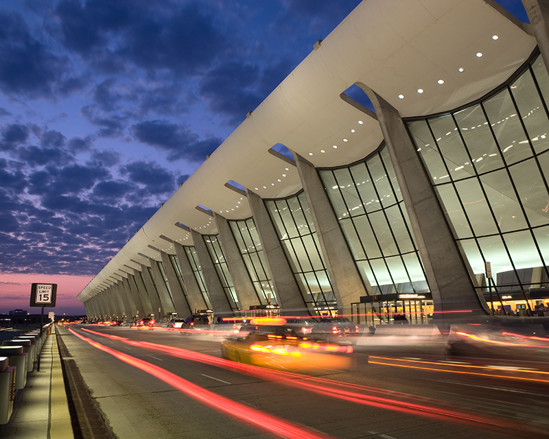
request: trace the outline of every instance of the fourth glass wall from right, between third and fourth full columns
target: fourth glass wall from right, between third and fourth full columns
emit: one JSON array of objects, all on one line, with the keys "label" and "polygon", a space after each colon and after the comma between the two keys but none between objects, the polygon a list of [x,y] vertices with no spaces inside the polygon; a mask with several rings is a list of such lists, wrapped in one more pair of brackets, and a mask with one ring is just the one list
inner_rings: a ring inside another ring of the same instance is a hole
[{"label": "fourth glass wall from right, between third and fourth full columns", "polygon": [[229,221],[231,230],[240,248],[240,254],[252,279],[257,298],[261,305],[278,305],[277,296],[270,281],[263,248],[255,228],[253,218],[242,221]]}]

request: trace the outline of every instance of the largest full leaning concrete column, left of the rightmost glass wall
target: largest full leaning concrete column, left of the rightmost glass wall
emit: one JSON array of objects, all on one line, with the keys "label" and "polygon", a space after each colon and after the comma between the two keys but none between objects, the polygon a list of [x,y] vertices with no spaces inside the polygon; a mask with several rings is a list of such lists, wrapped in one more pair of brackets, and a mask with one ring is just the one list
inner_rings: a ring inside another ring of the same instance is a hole
[{"label": "largest full leaning concrete column, left of the rightmost glass wall", "polygon": [[460,318],[470,320],[471,315],[487,316],[486,302],[476,293],[444,211],[399,112],[365,84],[359,82],[357,85],[370,98],[382,128],[435,311],[469,311],[435,316],[447,322]]}]

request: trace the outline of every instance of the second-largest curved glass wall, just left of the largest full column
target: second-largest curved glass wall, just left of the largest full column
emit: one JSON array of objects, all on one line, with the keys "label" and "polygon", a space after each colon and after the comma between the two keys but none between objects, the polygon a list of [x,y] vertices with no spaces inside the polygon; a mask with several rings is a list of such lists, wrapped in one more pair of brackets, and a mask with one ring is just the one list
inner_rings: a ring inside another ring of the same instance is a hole
[{"label": "second-largest curved glass wall, just left of the largest full column", "polygon": [[319,174],[358,270],[374,293],[429,292],[386,147],[360,163]]}]

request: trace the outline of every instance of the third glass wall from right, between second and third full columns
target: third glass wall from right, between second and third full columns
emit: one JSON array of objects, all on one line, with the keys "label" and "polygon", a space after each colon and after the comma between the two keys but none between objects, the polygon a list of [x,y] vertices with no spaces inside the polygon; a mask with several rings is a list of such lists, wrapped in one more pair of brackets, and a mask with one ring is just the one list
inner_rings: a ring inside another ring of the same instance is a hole
[{"label": "third glass wall from right, between second and third full columns", "polygon": [[307,306],[318,312],[337,307],[305,193],[265,204]]}]

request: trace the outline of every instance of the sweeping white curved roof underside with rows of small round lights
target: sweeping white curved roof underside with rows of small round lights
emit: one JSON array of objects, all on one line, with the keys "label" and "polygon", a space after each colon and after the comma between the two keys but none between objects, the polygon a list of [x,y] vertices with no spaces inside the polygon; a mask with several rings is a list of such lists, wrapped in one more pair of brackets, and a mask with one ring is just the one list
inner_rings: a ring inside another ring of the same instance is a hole
[{"label": "sweeping white curved roof underside with rows of small round lights", "polygon": [[196,206],[227,219],[250,217],[246,197],[225,187],[229,180],[262,198],[299,191],[296,168],[268,152],[277,143],[316,167],[347,165],[373,152],[383,140],[382,132],[371,115],[341,99],[349,86],[366,84],[403,117],[451,110],[499,86],[536,43],[521,23],[509,20],[492,4],[484,0],[360,3],[163,204],[78,299],[97,294],[97,289],[104,289],[100,283],[119,269],[128,270],[126,265],[137,268],[130,259],[148,263],[139,253],[159,260],[159,252],[149,246],[174,254],[173,244],[161,235],[193,245],[190,233],[176,223],[202,234],[217,233],[213,218]]}]

